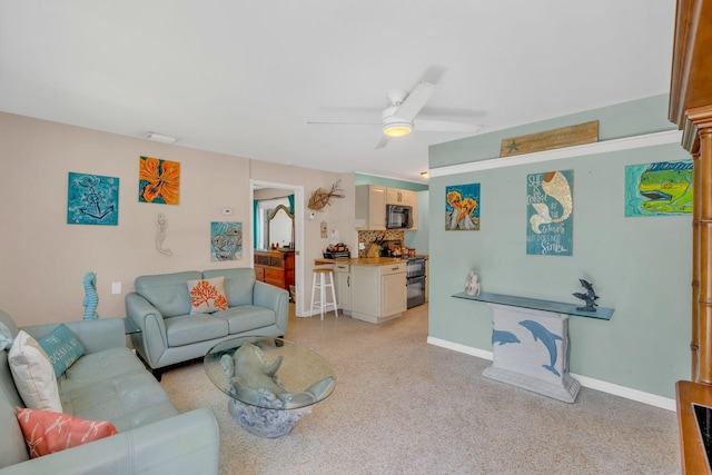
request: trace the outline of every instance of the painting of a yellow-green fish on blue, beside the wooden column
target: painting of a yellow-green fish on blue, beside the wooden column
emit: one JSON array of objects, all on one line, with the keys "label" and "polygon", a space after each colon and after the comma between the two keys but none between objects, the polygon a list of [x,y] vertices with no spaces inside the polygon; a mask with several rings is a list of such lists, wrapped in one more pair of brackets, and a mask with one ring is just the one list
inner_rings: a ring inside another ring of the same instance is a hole
[{"label": "painting of a yellow-green fish on blue, beside the wooden column", "polygon": [[625,216],[691,215],[692,160],[625,167]]}]

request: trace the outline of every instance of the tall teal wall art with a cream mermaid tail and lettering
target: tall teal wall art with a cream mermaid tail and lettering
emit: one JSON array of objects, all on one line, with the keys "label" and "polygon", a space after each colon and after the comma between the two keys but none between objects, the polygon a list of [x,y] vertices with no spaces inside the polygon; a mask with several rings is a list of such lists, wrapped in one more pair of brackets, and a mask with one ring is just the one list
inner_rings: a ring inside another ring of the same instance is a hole
[{"label": "tall teal wall art with a cream mermaid tail and lettering", "polygon": [[573,254],[574,171],[526,177],[526,254]]}]

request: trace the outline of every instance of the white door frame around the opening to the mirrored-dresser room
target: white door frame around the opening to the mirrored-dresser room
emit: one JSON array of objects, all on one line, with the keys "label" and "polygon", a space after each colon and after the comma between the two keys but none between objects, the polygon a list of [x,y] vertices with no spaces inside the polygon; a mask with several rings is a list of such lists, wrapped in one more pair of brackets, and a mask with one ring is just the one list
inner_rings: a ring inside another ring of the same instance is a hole
[{"label": "white door frame around the opening to the mirrored-dresser room", "polygon": [[[297,316],[306,315],[304,298],[304,187],[300,185],[278,184],[274,181],[249,180],[249,202],[255,201],[255,190],[274,188],[294,194],[294,249],[295,249],[295,287]],[[249,207],[249,222],[255,224],[255,207]],[[250,239],[248,259],[250,267],[255,267],[255,243]]]}]

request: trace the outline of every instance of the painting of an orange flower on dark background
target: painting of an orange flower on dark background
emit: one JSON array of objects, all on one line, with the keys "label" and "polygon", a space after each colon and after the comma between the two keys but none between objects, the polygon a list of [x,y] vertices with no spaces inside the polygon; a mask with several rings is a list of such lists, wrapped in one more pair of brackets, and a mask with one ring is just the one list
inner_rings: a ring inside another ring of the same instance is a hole
[{"label": "painting of an orange flower on dark background", "polygon": [[138,172],[139,202],[178,205],[180,197],[180,164],[141,157]]}]

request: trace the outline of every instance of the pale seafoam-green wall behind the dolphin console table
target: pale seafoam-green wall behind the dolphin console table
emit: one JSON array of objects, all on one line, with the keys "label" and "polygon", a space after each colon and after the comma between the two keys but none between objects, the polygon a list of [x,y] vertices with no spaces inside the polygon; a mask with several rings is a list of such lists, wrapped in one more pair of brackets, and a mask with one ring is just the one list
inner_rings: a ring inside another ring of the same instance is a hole
[{"label": "pale seafoam-green wall behind the dolphin console table", "polygon": [[[431,168],[493,158],[502,138],[599,119],[601,140],[674,129],[668,97],[431,147]],[[429,336],[492,350],[492,310],[452,298],[467,273],[483,290],[578,303],[578,278],[594,284],[610,321],[571,317],[572,373],[674,398],[690,378],[692,218],[624,217],[625,166],[690,159],[676,144],[432,177]],[[526,255],[526,176],[573,170],[573,256]],[[445,187],[481,184],[481,230],[445,231]]]}]

